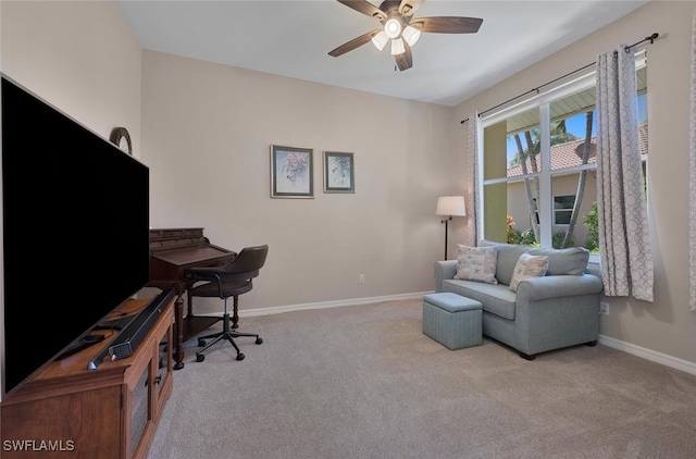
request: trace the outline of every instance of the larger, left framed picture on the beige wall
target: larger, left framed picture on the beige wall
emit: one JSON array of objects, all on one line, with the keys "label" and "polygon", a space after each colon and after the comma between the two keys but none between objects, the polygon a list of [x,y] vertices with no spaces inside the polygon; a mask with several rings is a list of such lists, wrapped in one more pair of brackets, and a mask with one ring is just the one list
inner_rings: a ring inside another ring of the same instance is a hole
[{"label": "larger, left framed picture on the beige wall", "polygon": [[313,198],[311,148],[271,146],[271,197]]}]

